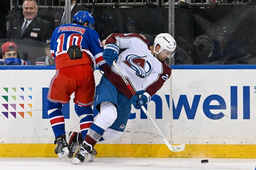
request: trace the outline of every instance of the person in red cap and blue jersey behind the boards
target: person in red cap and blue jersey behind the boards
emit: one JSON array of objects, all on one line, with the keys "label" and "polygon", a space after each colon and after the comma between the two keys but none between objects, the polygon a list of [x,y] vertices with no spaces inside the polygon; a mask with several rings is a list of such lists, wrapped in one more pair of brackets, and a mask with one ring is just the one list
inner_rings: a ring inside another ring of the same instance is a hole
[{"label": "person in red cap and blue jersey behind the boards", "polygon": [[2,45],[0,65],[31,65],[31,63],[18,57],[17,45],[14,42],[6,42]]}]

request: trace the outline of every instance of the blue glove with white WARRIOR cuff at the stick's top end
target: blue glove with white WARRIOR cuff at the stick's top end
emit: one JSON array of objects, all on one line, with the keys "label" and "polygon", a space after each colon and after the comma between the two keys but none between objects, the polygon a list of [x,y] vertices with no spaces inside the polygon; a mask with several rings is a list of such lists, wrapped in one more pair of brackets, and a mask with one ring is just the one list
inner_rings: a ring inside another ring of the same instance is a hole
[{"label": "blue glove with white WARRIOR cuff at the stick's top end", "polygon": [[105,45],[104,49],[105,50],[103,52],[103,59],[107,62],[108,66],[110,67],[113,64],[113,61],[118,59],[119,48],[116,44],[111,43]]}]

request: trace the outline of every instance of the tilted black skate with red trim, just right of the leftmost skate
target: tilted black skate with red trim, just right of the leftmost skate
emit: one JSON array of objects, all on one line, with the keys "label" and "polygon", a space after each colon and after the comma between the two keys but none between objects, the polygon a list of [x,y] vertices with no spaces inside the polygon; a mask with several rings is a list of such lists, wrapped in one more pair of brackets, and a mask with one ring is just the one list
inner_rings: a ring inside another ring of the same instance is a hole
[{"label": "tilted black skate with red trim, just right of the leftmost skate", "polygon": [[74,153],[79,149],[83,143],[83,137],[81,133],[69,132],[69,142],[68,142],[68,158],[73,158]]}]

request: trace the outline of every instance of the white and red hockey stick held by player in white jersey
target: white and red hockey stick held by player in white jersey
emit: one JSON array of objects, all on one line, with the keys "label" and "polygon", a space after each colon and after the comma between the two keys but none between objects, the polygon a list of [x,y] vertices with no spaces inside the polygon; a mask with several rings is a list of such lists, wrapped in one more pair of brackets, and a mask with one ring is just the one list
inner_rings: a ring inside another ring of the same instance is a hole
[{"label": "white and red hockey stick held by player in white jersey", "polygon": [[[116,68],[118,74],[122,77],[122,79],[124,80],[124,83],[126,84],[126,86],[128,87],[128,89],[131,91],[131,93],[133,95],[136,95],[136,93],[133,91],[132,86],[129,84],[129,82],[126,80],[126,78],[124,77],[124,74],[121,72],[121,70],[119,69],[119,67],[116,65],[116,62],[113,62],[114,67]],[[152,123],[152,125],[154,126],[154,128],[156,129],[156,131],[158,132],[159,136],[163,139],[164,143],[166,144],[166,146],[170,149],[170,151],[172,152],[180,152],[183,151],[185,149],[185,144],[180,144],[180,145],[172,145],[169,144],[169,142],[165,139],[164,135],[162,134],[162,132],[160,131],[160,129],[156,126],[156,123],[153,121],[152,117],[148,114],[148,111],[146,110],[146,108],[142,105],[141,106],[142,110],[144,111],[144,113],[147,115],[149,121]]]}]

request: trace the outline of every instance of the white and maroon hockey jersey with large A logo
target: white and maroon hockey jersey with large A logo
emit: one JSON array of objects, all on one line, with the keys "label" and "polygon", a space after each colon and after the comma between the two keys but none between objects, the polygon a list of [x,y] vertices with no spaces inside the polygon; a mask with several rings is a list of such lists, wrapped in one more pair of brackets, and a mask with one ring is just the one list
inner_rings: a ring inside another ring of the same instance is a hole
[{"label": "white and maroon hockey jersey with large A logo", "polygon": [[[153,56],[148,40],[137,33],[113,33],[106,44],[115,43],[125,50],[119,54],[116,64],[123,72],[135,92],[144,90],[153,96],[171,76],[171,68],[166,61],[161,62]],[[121,51],[121,50],[120,50]],[[119,76],[115,67],[102,66],[105,76],[126,97],[132,94]]]}]

